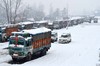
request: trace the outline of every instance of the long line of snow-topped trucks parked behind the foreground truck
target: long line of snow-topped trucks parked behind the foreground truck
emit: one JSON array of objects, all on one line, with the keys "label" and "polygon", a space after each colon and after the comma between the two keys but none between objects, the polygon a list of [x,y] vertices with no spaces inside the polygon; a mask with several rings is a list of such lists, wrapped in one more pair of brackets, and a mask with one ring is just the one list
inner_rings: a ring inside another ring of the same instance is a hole
[{"label": "long line of snow-topped trucks parked behind the foreground truck", "polygon": [[93,21],[94,23],[98,23],[98,19],[95,17],[73,17],[68,20],[56,20],[53,22],[48,21],[37,21],[37,22],[21,22],[14,25],[6,25],[0,27],[0,42],[7,41],[14,31],[21,31],[24,29],[32,29],[32,28],[39,28],[39,27],[46,27],[51,30],[53,29],[61,29],[66,28],[68,26],[78,25],[83,22],[89,22],[91,23]]}]

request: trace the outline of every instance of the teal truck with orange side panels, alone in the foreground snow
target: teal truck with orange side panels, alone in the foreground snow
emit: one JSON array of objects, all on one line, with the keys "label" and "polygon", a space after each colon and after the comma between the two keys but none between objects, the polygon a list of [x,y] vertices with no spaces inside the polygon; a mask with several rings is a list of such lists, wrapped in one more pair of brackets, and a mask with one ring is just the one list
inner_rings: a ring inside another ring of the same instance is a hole
[{"label": "teal truck with orange side panels, alone in the foreground snow", "polygon": [[46,55],[51,47],[51,30],[45,27],[12,32],[9,39],[9,54],[14,61],[29,61],[33,55]]}]

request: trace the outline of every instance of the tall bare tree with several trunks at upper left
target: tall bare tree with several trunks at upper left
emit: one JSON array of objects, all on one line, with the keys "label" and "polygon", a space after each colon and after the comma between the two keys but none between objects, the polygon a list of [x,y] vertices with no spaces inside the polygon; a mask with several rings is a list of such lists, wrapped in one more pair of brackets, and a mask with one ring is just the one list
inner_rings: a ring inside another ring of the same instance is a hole
[{"label": "tall bare tree with several trunks at upper left", "polygon": [[8,23],[16,23],[18,9],[22,0],[1,0],[0,7],[5,10]]}]

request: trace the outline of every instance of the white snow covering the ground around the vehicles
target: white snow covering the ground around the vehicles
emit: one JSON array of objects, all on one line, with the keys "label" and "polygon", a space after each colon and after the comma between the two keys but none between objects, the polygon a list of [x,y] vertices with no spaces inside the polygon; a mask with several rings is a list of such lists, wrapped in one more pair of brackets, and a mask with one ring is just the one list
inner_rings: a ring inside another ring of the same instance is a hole
[{"label": "white snow covering the ground around the vehicles", "polygon": [[[60,36],[70,32],[69,44],[52,43],[47,55],[23,64],[8,64],[11,60],[7,50],[8,43],[0,43],[0,66],[96,66],[99,65],[100,24],[82,24],[54,30]],[[4,52],[5,51],[5,52]],[[2,54],[3,52],[3,54]]]}]

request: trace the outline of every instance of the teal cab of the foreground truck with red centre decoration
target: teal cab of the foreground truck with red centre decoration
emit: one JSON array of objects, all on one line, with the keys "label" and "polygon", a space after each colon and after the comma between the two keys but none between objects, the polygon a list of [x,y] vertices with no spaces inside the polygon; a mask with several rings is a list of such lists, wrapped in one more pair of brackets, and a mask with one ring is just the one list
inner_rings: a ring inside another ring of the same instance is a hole
[{"label": "teal cab of the foreground truck with red centre decoration", "polygon": [[32,43],[28,33],[13,32],[9,40],[9,54],[12,59],[21,59],[26,57],[28,52],[32,54]]}]

